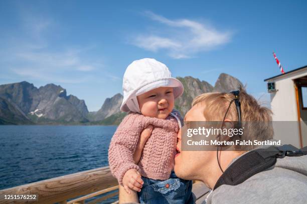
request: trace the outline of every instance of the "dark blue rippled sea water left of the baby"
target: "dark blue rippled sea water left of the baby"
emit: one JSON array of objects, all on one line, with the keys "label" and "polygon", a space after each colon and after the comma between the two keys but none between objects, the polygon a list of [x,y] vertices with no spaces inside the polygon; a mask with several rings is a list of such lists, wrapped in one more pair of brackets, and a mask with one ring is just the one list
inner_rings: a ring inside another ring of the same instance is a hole
[{"label": "dark blue rippled sea water left of the baby", "polygon": [[108,165],[116,127],[0,125],[0,189]]}]

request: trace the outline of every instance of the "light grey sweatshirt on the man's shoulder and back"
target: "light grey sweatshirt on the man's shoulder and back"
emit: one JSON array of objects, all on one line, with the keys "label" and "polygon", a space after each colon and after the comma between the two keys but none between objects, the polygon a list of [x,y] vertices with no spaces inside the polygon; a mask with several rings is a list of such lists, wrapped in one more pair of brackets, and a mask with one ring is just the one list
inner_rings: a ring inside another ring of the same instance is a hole
[{"label": "light grey sweatshirt on the man's shoulder and back", "polygon": [[[238,185],[221,185],[208,203],[304,203],[307,200],[307,156],[284,157]],[[239,169],[238,169],[239,170]]]}]

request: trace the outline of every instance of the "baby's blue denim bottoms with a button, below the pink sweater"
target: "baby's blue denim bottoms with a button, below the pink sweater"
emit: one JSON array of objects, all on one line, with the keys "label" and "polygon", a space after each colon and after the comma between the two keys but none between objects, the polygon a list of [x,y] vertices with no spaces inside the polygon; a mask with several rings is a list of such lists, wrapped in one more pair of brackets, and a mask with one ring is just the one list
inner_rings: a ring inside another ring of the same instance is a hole
[{"label": "baby's blue denim bottoms with a button, below the pink sweater", "polygon": [[177,177],[174,170],[167,180],[154,180],[142,176],[144,181],[141,191],[138,192],[140,203],[194,203],[192,196],[192,180]]}]

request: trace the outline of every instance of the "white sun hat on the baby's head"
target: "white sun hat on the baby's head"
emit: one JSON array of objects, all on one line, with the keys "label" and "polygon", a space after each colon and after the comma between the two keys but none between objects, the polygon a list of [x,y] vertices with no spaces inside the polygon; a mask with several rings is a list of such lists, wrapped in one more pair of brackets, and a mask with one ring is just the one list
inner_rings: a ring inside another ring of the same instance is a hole
[{"label": "white sun hat on the baby's head", "polygon": [[123,100],[121,111],[140,113],[137,95],[158,87],[173,87],[174,97],[182,95],[184,87],[180,80],[173,78],[169,68],[153,58],[133,61],[126,68],[122,80]]}]

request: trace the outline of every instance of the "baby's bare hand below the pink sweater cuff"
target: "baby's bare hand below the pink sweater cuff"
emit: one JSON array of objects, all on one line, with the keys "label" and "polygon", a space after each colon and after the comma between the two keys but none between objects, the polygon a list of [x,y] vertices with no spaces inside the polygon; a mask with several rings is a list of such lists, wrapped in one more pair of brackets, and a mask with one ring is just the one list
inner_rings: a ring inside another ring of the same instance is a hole
[{"label": "baby's bare hand below the pink sweater cuff", "polygon": [[140,173],[134,168],[127,170],[122,178],[123,187],[128,194],[131,193],[130,189],[139,192],[143,183]]}]

